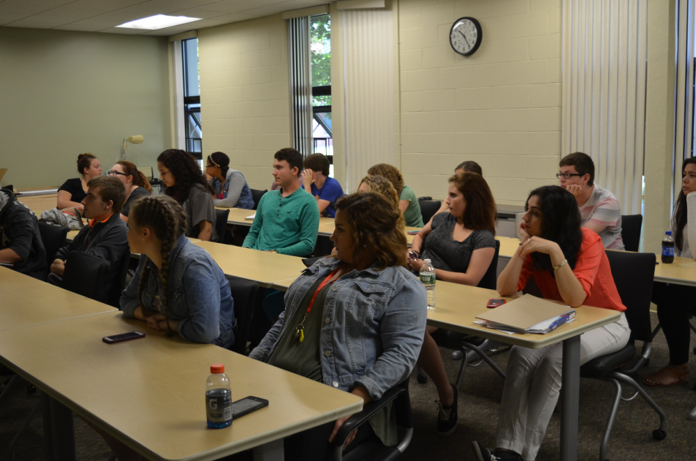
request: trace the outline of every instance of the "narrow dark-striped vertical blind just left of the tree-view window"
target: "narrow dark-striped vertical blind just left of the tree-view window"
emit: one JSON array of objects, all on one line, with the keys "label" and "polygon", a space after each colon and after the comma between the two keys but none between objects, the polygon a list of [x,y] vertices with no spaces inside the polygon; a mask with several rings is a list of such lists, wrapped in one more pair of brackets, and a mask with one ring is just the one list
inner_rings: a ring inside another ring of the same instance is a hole
[{"label": "narrow dark-striped vertical blind just left of the tree-view window", "polygon": [[303,156],[312,153],[311,70],[309,17],[294,17],[288,24],[291,126],[293,147]]}]

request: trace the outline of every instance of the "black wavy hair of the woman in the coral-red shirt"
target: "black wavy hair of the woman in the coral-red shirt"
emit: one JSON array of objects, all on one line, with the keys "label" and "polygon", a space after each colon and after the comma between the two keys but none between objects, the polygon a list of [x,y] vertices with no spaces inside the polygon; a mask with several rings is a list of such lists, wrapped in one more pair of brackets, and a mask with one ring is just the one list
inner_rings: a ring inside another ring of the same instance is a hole
[{"label": "black wavy hair of the woman in the coral-red shirt", "polygon": [[[529,210],[529,198],[539,198],[541,208],[541,235],[539,237],[556,242],[570,267],[575,267],[578,251],[582,244],[580,230],[580,210],[578,201],[570,192],[560,186],[542,186],[529,192],[525,211]],[[548,254],[534,252],[532,261],[537,269],[548,270],[553,275],[553,265]]]}]

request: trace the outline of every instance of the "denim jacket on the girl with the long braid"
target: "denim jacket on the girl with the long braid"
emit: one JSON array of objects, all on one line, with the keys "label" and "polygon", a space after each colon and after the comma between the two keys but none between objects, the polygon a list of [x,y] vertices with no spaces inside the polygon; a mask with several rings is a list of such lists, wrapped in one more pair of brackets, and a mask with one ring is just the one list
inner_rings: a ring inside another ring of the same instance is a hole
[{"label": "denim jacket on the girl with the long braid", "polygon": [[[121,311],[126,317],[133,318],[140,304],[138,288],[146,264],[150,265],[150,276],[143,292],[143,308],[162,312],[159,270],[142,255],[133,279],[121,295]],[[208,252],[182,235],[169,256],[167,279],[167,317],[179,322],[179,336],[196,343],[231,346],[235,317],[230,286]]]}]

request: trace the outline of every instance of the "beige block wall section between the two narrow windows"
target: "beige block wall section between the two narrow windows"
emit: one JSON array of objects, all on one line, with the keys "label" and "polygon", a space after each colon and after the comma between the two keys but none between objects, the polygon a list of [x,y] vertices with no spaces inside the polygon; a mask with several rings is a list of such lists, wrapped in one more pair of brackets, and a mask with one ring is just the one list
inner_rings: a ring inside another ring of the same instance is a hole
[{"label": "beige block wall section between the two narrow windows", "polygon": [[288,31],[279,15],[199,31],[203,155],[222,150],[249,187],[267,189],[290,145]]}]

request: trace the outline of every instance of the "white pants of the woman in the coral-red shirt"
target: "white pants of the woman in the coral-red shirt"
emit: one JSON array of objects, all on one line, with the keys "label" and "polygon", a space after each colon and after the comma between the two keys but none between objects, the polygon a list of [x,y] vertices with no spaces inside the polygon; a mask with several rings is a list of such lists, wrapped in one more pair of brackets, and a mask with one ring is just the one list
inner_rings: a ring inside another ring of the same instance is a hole
[{"label": "white pants of the woman in the coral-red shirt", "polygon": [[[621,350],[631,329],[626,315],[614,323],[580,335],[580,365]],[[533,461],[561,389],[563,344],[541,349],[513,346],[500,402],[497,448],[520,453]]]}]

